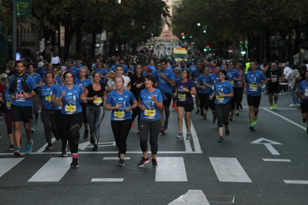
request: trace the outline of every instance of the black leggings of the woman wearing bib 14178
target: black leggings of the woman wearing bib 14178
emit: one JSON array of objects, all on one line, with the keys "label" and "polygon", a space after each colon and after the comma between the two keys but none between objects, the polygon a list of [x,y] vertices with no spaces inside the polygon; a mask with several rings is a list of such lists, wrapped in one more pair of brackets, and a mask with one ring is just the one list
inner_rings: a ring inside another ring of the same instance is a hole
[{"label": "black leggings of the woman wearing bib 14178", "polygon": [[77,133],[83,122],[82,112],[71,115],[61,115],[62,117],[62,135],[67,138],[71,153],[78,153]]}]

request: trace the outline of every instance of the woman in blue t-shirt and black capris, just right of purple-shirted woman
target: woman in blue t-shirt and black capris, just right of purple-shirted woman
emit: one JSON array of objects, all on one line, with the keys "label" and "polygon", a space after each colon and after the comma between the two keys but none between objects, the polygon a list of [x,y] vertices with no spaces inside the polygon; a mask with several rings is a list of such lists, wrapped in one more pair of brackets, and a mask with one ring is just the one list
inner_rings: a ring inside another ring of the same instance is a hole
[{"label": "woman in blue t-shirt and black capris, just right of purple-shirted woman", "polygon": [[206,87],[206,83],[209,84],[210,67],[208,65],[203,66],[201,72],[203,74],[198,77],[196,87],[198,88],[201,116],[206,120],[206,114],[209,110],[209,93],[211,92],[211,88]]}]

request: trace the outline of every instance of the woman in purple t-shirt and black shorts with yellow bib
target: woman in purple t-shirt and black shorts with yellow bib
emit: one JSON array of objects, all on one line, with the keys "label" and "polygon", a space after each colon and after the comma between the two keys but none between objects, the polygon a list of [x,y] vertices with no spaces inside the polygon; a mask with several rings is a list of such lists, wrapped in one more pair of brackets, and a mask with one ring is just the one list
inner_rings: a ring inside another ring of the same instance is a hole
[{"label": "woman in purple t-shirt and black shorts with yellow bib", "polygon": [[190,126],[191,126],[191,115],[193,111],[193,97],[197,91],[194,87],[193,81],[188,80],[189,70],[183,69],[181,72],[181,79],[176,81],[176,90],[173,96],[177,97],[177,123],[179,125],[178,139],[183,137],[183,116],[185,112],[185,125],[187,129],[186,140],[191,140]]}]

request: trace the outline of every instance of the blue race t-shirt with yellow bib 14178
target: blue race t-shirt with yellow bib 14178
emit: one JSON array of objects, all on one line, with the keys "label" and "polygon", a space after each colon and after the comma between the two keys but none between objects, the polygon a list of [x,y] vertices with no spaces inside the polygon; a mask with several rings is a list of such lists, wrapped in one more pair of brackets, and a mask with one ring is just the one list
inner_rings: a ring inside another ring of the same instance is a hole
[{"label": "blue race t-shirt with yellow bib 14178", "polygon": [[73,85],[72,89],[67,89],[65,85],[59,87],[56,93],[56,97],[60,97],[62,91],[65,90],[65,94],[62,98],[61,113],[64,115],[71,115],[78,112],[82,112],[81,105],[79,104],[79,96],[83,94],[83,89],[79,85]]}]

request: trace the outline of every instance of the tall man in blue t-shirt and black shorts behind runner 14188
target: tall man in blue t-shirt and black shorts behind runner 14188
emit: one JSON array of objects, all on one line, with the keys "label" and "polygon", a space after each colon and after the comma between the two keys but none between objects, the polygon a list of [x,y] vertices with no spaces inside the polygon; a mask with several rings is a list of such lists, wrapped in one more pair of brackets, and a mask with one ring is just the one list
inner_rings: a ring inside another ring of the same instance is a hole
[{"label": "tall man in blue t-shirt and black shorts behind runner 14188", "polygon": [[[164,108],[160,110],[160,120],[161,120],[161,129],[160,132],[164,135],[168,128],[168,120],[170,115],[170,104],[172,100],[172,86],[175,85],[174,73],[167,69],[167,60],[163,59],[160,61],[161,70],[156,71],[156,79],[158,83],[158,89],[160,90],[163,96],[163,105]],[[165,111],[165,121],[164,121],[164,111]]]}]

